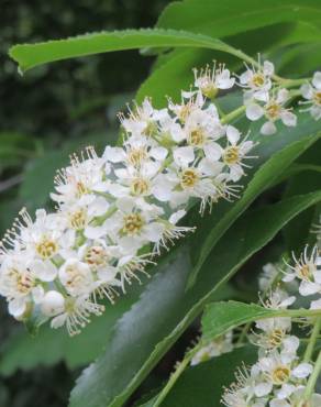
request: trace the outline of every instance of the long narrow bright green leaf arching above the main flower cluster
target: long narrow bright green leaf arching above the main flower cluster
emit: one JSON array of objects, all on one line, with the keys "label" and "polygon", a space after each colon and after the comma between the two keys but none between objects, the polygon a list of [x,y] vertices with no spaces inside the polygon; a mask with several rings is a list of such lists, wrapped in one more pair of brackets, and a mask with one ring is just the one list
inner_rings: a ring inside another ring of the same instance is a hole
[{"label": "long narrow bright green leaf arching above the main flower cluster", "polygon": [[[146,29],[99,32],[37,44],[14,45],[9,55],[25,72],[55,61],[101,54],[112,51],[152,47],[201,47],[235,53],[220,40],[175,30]],[[237,52],[236,52],[237,53]]]}]

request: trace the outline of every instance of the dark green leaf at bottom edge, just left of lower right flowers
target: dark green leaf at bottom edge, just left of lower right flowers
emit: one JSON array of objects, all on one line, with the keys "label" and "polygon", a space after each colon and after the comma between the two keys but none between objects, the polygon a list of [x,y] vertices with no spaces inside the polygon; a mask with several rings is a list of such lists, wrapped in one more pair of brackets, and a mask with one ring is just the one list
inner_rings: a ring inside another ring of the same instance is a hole
[{"label": "dark green leaf at bottom edge, just left of lower right flowers", "polygon": [[[244,346],[187,369],[162,403],[162,407],[222,406],[220,400],[223,387],[234,382],[237,367],[244,363],[253,364],[256,358],[254,346]],[[153,407],[154,400],[155,398],[140,407]]]}]

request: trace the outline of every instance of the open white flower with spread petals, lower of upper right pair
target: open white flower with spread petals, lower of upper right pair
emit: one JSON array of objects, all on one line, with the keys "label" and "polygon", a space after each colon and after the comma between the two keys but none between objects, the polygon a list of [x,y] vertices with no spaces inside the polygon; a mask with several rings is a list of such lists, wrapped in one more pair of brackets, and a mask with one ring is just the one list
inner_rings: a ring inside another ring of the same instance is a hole
[{"label": "open white flower with spread petals, lower of upper right pair", "polygon": [[267,96],[266,103],[264,106],[258,105],[255,101],[248,101],[246,105],[246,117],[250,120],[258,120],[265,117],[267,121],[262,125],[261,133],[265,135],[274,134],[276,132],[275,122],[281,120],[287,127],[297,125],[297,117],[290,109],[285,108],[285,103],[289,99],[289,92],[287,89],[279,89],[275,96]]}]

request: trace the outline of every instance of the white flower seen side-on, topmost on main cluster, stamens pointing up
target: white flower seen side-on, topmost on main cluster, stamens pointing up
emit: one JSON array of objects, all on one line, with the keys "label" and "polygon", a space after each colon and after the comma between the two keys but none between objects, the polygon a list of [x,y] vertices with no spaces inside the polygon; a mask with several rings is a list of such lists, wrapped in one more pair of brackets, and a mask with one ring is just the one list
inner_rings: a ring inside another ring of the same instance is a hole
[{"label": "white flower seen side-on, topmost on main cluster, stamens pointing up", "polygon": [[195,74],[195,87],[198,88],[202,95],[207,98],[214,98],[219,89],[230,89],[234,86],[235,78],[231,77],[229,69],[224,65],[220,65],[217,68],[215,63],[212,69],[207,66],[204,69],[198,72],[193,70]]}]

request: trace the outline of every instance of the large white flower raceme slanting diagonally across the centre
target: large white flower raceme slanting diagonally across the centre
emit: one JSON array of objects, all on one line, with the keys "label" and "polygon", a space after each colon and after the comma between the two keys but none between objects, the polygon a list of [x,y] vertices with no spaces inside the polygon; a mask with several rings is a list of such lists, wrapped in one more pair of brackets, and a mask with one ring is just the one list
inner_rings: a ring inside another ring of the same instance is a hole
[{"label": "large white flower raceme slanting diagonally across the centre", "polygon": [[[320,118],[321,73],[302,87],[303,110]],[[284,84],[284,86],[283,86]],[[150,99],[120,116],[122,146],[98,156],[88,147],[60,169],[51,195],[56,211],[25,209],[1,244],[0,293],[18,320],[47,320],[76,334],[103,312],[126,285],[140,280],[162,248],[193,230],[180,221],[191,201],[201,215],[220,200],[239,197],[255,143],[230,123],[244,114],[263,119],[261,132],[276,123],[297,123],[289,105],[302,81],[280,80],[269,62],[232,76],[224,66],[195,70],[181,102],[155,109]],[[242,105],[224,114],[215,97],[237,86]]]}]

